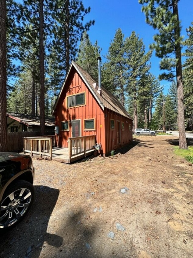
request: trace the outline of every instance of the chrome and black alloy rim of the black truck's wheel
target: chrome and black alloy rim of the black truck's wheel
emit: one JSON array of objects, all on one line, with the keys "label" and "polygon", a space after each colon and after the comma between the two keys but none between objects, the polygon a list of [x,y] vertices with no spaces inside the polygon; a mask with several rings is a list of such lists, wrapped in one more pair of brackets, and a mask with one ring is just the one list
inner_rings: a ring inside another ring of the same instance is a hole
[{"label": "chrome and black alloy rim of the black truck's wheel", "polygon": [[31,202],[29,189],[20,188],[10,193],[1,204],[0,228],[10,227],[27,211]]}]

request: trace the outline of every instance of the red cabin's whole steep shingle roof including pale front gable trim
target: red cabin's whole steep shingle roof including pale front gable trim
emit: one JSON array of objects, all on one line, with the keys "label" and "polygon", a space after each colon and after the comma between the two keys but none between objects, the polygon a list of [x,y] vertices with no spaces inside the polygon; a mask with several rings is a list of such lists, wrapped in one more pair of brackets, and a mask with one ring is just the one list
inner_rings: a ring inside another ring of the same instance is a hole
[{"label": "red cabin's whole steep shingle roof including pale front gable trim", "polygon": [[[92,94],[94,95],[94,97],[96,98],[96,100],[98,101],[99,105],[102,107],[103,110],[104,110],[104,108],[110,109],[110,110],[112,110],[116,113],[119,113],[122,116],[126,116],[126,117],[128,117],[129,119],[132,120],[132,118],[129,116],[127,111],[124,109],[123,105],[108,90],[106,90],[104,87],[101,87],[102,94],[101,95],[98,94],[97,89],[95,89],[95,87],[93,86],[93,84],[97,83],[97,82],[88,74],[88,72],[84,71],[84,69],[81,68],[80,65],[78,65],[74,61],[72,61],[71,65],[70,65],[70,68],[69,68],[68,73],[66,75],[66,79],[67,79],[67,77],[70,73],[70,70],[71,70],[72,66],[77,70],[79,75],[82,77],[83,81],[88,86],[88,88],[91,90]],[[58,100],[60,98],[63,87],[65,85],[66,79],[63,83],[63,86],[60,90],[59,96],[58,96],[58,98],[56,100],[56,103],[54,105],[54,110],[57,106]]]}]

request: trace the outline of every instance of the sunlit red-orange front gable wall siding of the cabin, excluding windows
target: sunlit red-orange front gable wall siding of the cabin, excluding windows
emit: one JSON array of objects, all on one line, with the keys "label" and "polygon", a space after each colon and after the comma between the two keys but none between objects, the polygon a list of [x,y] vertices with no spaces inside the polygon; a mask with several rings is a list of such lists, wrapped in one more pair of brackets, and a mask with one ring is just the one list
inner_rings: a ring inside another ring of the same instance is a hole
[{"label": "sunlit red-orange front gable wall siding of the cabin, excluding windows", "polygon": [[[85,104],[67,108],[67,96],[85,92]],[[95,119],[95,131],[84,131],[84,119]],[[59,147],[68,147],[68,138],[72,137],[72,126],[69,123],[69,131],[62,131],[62,121],[80,120],[80,136],[96,135],[96,142],[102,144],[105,150],[105,118],[104,112],[91,94],[80,75],[73,68],[69,74],[59,102],[55,109],[55,124],[59,126]]]}]

